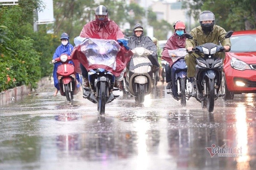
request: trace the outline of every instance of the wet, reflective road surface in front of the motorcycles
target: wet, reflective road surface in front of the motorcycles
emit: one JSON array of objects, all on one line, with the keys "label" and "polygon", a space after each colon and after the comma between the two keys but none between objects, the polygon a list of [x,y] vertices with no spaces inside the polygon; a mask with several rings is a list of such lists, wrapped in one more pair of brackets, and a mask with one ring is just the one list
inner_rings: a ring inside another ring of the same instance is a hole
[{"label": "wet, reflective road surface in front of the motorcycles", "polygon": [[[123,96],[106,105],[54,89],[0,106],[0,170],[255,170],[255,95],[180,107],[158,85],[143,104]],[[211,153],[211,154],[210,154]]]}]

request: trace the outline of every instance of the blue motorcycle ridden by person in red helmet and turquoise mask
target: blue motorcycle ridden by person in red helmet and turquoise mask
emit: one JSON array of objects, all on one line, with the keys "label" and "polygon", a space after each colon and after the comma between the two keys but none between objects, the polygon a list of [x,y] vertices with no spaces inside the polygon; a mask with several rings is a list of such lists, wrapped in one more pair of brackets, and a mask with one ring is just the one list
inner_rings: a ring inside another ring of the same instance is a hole
[{"label": "blue motorcycle ridden by person in red helmet and turquoise mask", "polygon": [[184,57],[187,54],[185,48],[168,50],[172,58],[171,78],[172,86],[167,94],[172,94],[175,100],[179,101],[181,106],[186,106],[186,100],[189,100],[189,81],[187,78],[187,69]]}]

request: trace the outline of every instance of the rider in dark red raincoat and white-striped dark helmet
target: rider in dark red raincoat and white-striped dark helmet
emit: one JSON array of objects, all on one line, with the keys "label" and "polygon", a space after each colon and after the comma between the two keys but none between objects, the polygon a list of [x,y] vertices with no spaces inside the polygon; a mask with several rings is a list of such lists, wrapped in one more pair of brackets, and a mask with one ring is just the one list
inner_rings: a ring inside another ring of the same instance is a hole
[{"label": "rider in dark red raincoat and white-striped dark helmet", "polygon": [[[119,88],[119,81],[122,80],[126,64],[128,61],[130,61],[133,53],[127,47],[128,42],[124,38],[125,35],[122,33],[119,26],[113,20],[108,18],[108,9],[105,6],[100,5],[96,8],[95,20],[92,20],[84,25],[79,37],[116,40],[120,44],[121,50],[116,56],[116,70],[113,72],[113,75],[116,76],[114,86]],[[87,60],[78,60],[79,56],[81,55],[83,54],[81,53],[81,49],[79,47],[74,49],[71,57],[75,63],[75,71],[84,77],[84,87],[88,87],[88,63]]]}]

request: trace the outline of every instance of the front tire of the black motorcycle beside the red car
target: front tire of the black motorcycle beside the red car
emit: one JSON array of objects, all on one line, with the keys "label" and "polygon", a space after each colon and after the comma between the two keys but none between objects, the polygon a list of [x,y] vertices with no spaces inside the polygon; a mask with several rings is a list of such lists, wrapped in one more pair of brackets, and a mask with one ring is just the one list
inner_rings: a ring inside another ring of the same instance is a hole
[{"label": "front tire of the black motorcycle beside the red car", "polygon": [[215,101],[214,92],[214,79],[209,78],[207,81],[207,110],[208,112],[213,112]]}]

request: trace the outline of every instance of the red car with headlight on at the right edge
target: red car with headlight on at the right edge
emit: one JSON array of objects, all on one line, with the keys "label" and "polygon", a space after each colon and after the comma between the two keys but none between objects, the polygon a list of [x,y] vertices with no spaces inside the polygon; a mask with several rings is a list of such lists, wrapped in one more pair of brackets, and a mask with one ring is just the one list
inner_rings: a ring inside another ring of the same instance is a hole
[{"label": "red car with headlight on at the right edge", "polygon": [[236,31],[230,41],[223,68],[224,100],[232,100],[234,94],[256,93],[256,30]]}]

